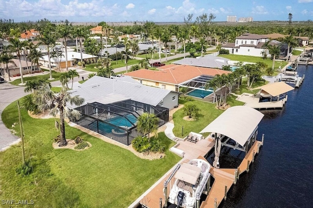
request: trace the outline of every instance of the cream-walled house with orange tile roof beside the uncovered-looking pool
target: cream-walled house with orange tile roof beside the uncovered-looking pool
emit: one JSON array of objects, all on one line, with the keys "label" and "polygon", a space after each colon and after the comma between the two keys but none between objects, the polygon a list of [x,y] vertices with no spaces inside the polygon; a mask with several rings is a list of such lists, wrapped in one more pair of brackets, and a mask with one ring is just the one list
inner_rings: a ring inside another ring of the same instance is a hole
[{"label": "cream-walled house with orange tile roof beside the uncovered-looking pool", "polygon": [[231,73],[221,69],[177,64],[161,66],[158,69],[160,70],[140,69],[124,75],[148,86],[179,92],[179,87],[201,88],[216,75]]}]

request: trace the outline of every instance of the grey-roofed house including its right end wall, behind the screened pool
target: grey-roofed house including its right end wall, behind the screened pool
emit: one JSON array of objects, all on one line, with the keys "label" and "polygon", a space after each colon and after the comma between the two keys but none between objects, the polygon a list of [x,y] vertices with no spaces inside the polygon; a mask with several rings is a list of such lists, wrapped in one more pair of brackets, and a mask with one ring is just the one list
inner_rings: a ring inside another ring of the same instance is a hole
[{"label": "grey-roofed house including its right end wall, behind the screened pool", "polygon": [[85,99],[82,105],[95,101],[102,104],[111,104],[123,100],[133,100],[142,104],[162,106],[168,109],[178,105],[178,92],[146,86],[134,81],[130,82],[129,79],[93,76],[85,83],[82,83],[80,87],[70,92],[73,96],[79,95]]}]

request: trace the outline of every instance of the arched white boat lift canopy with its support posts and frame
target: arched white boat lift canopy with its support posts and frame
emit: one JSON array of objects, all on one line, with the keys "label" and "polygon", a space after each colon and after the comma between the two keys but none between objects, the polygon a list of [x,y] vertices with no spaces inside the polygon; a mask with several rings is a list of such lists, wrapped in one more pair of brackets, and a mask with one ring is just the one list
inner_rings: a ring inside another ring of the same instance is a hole
[{"label": "arched white boat lift canopy with its support posts and frame", "polygon": [[[219,167],[219,156],[221,146],[228,146],[241,151],[248,151],[248,145],[252,145],[257,136],[257,129],[263,118],[263,113],[248,106],[233,106],[225,110],[211,124],[207,125],[200,133],[215,133],[215,161],[214,167]],[[220,134],[220,136],[217,136]],[[222,143],[221,139],[227,136],[228,139]],[[236,142],[236,145],[227,144],[229,139]],[[241,145],[242,147],[239,147]]]}]

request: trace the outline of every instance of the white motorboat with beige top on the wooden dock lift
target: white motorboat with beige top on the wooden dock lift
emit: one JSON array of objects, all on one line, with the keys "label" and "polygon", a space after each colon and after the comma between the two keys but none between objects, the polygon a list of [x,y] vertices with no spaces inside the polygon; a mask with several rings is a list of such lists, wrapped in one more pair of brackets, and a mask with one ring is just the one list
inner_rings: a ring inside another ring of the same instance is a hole
[{"label": "white motorboat with beige top on the wooden dock lift", "polygon": [[183,163],[176,172],[175,183],[170,191],[169,202],[177,207],[194,208],[210,177],[211,165],[202,159]]}]

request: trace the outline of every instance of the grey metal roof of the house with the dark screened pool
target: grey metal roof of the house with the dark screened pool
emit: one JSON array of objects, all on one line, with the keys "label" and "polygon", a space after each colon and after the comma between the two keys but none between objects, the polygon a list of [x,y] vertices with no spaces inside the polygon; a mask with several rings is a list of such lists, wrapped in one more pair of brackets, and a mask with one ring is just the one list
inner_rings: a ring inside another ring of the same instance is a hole
[{"label": "grey metal roof of the house with the dark screened pool", "polygon": [[146,86],[140,83],[125,82],[118,79],[93,76],[83,83],[80,88],[70,90],[70,92],[72,95],[79,95],[84,98],[85,104],[95,99],[109,99],[112,96],[110,94],[114,93],[121,95],[119,98],[123,100],[128,98],[156,106],[171,90]]}]

